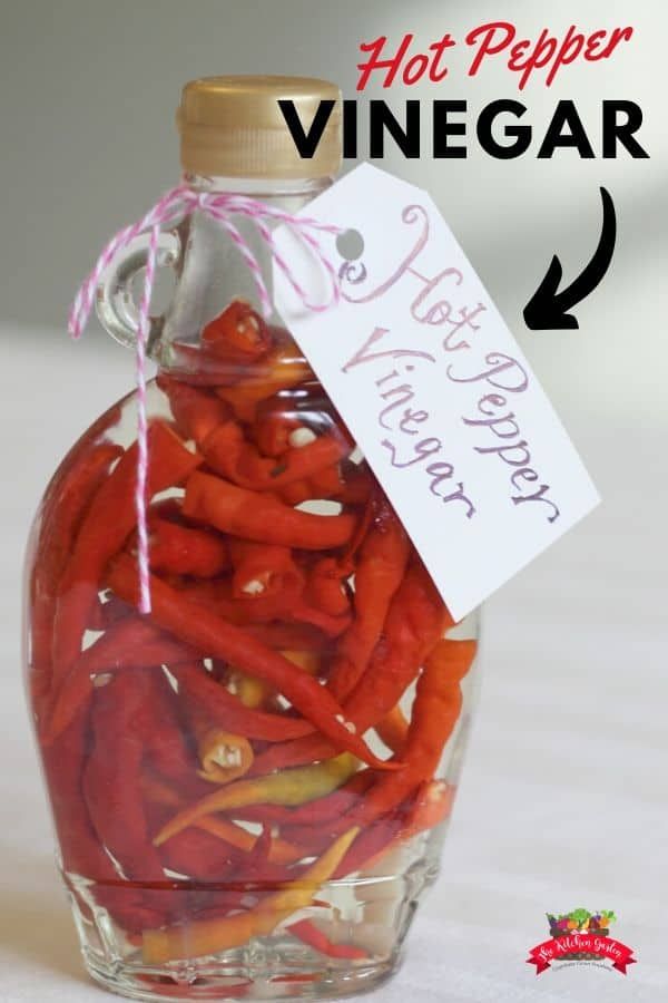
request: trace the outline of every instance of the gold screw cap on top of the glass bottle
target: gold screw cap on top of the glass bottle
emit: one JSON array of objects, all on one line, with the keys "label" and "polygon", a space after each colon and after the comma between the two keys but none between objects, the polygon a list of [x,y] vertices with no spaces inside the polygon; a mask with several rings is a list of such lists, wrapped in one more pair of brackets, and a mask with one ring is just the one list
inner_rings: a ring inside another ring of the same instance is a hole
[{"label": "gold screw cap on top of the glass bottle", "polygon": [[[278,107],[294,101],[307,134],[322,100],[334,100],[313,157],[301,157]],[[181,165],[220,177],[314,178],[341,167],[341,91],[311,77],[204,77],[186,84],[177,111]]]}]

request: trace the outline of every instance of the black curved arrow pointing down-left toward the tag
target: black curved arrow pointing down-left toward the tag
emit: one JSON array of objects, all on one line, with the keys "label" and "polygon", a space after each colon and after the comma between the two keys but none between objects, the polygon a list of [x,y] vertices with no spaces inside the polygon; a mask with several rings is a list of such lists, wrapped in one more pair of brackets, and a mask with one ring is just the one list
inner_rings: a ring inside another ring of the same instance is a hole
[{"label": "black curved arrow pointing down-left toward the tag", "polygon": [[577,317],[567,311],[593,292],[612,261],[617,236],[617,216],[610,193],[601,188],[603,199],[603,226],[593,257],[561,292],[557,292],[563,274],[561,262],[554,255],[543,281],[524,306],[524,322],[531,331],[572,330],[579,328]]}]

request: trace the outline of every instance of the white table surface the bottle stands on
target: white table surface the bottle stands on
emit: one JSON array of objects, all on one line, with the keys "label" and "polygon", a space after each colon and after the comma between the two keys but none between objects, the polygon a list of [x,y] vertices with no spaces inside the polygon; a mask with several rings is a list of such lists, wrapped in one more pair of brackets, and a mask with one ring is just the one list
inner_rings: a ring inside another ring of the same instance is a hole
[{"label": "white table surface the bottle stands on", "polygon": [[[84,1003],[52,866],[20,681],[20,565],[60,456],[129,388],[131,358],[92,334],[0,328],[0,1001]],[[570,417],[570,416],[569,416]],[[395,981],[370,1001],[644,1001],[668,995],[666,438],[572,418],[605,504],[488,604],[484,682],[443,874]],[[665,430],[664,430],[665,431]],[[598,967],[537,978],[546,912],[613,908],[635,948],[627,977]],[[110,997],[109,997],[110,999]]]}]

